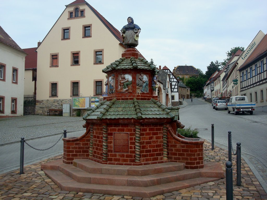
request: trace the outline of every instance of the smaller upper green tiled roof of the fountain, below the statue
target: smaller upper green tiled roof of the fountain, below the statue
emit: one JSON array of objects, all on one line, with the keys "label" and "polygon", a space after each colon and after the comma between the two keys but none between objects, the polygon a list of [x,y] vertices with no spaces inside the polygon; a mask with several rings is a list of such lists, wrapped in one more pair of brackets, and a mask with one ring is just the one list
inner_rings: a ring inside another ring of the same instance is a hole
[{"label": "smaller upper green tiled roof of the fountain, below the statue", "polygon": [[153,70],[155,72],[158,72],[159,70],[156,69],[154,65],[152,65],[150,62],[148,62],[144,58],[120,58],[116,60],[115,62],[108,65],[105,69],[102,71],[104,73],[107,73],[111,70],[118,70],[118,69],[147,69],[147,70]]}]

